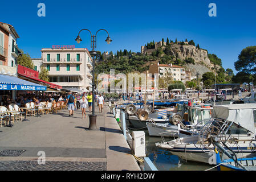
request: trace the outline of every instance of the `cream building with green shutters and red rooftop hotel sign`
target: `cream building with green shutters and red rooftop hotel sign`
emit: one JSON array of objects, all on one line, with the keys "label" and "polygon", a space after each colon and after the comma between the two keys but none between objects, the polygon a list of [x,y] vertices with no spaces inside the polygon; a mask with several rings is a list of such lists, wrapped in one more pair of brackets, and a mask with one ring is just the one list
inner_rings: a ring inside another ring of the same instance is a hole
[{"label": "cream building with green shutters and red rooftop hotel sign", "polygon": [[50,82],[62,88],[92,90],[92,57],[87,48],[52,46],[43,48],[40,59],[32,59],[35,70],[48,70]]}]

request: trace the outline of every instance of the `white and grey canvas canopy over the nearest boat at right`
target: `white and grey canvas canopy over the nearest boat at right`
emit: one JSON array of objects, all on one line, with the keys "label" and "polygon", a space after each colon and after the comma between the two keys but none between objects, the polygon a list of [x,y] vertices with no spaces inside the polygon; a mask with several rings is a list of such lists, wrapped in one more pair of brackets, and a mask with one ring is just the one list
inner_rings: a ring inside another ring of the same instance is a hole
[{"label": "white and grey canvas canopy over the nearest boat at right", "polygon": [[218,105],[213,106],[212,117],[234,122],[255,133],[253,110],[256,110],[256,104]]}]

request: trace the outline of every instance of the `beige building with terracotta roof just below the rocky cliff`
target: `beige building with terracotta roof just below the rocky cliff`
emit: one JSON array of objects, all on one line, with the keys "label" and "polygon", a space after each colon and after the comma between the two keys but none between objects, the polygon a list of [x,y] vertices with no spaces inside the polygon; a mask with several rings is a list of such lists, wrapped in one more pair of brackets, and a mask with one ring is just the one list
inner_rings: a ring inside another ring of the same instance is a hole
[{"label": "beige building with terracotta roof just below the rocky cliff", "polygon": [[184,67],[180,67],[173,64],[151,64],[149,65],[148,73],[151,73],[152,76],[155,73],[158,73],[159,77],[162,77],[165,74],[172,75],[174,81],[182,81],[184,84],[186,83],[186,78],[187,80],[189,80],[189,72],[187,76]]}]

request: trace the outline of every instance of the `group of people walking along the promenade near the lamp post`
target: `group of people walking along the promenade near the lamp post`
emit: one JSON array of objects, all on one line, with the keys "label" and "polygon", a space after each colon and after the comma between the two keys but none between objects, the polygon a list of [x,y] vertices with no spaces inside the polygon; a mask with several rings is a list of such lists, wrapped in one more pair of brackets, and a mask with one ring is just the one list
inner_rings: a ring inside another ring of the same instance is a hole
[{"label": "group of people walking along the promenade near the lamp post", "polygon": [[[103,105],[104,105],[104,97],[101,94],[96,94],[95,96],[96,99],[96,103],[99,106],[99,111],[100,113],[102,113],[103,110]],[[67,99],[66,99],[66,104],[68,106],[68,111],[69,111],[69,116],[71,117],[71,115],[74,115],[74,109],[75,109],[75,100],[76,100],[76,105],[77,108],[79,109],[79,107],[81,107],[82,109],[82,119],[86,118],[86,108],[87,105],[89,107],[89,112],[92,112],[92,92],[90,94],[88,94],[88,96],[86,94],[81,96],[77,95],[74,96],[72,95],[71,92],[68,93]],[[78,106],[79,105],[79,106]]]}]

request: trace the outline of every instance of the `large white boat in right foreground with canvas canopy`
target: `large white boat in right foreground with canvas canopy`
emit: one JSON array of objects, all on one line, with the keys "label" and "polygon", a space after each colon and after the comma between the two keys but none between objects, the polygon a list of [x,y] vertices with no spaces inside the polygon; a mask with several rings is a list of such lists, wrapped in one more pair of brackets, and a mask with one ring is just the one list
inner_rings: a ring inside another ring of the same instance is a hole
[{"label": "large white boat in right foreground with canvas canopy", "polygon": [[[252,158],[256,156],[254,119],[256,121],[256,104],[213,106],[212,119],[200,133],[157,142],[156,146],[184,160],[209,163],[210,152],[214,151],[210,139],[218,134],[225,150],[232,150],[237,158]],[[229,157],[223,154],[222,159]]]}]

